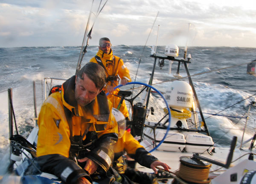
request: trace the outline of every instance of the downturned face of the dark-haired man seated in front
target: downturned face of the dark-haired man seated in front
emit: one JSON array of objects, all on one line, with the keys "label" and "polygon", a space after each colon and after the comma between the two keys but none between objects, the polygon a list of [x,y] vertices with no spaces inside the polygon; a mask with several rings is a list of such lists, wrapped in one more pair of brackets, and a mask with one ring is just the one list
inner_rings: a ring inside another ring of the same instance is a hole
[{"label": "downturned face of the dark-haired man seated in front", "polygon": [[94,82],[83,74],[83,79],[76,76],[75,99],[81,106],[87,105],[100,93]]}]

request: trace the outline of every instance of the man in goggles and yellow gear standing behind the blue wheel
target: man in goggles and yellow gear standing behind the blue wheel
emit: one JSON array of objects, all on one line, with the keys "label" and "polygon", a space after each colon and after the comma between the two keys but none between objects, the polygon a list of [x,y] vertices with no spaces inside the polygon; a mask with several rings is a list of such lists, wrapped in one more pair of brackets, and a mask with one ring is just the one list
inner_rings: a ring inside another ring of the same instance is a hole
[{"label": "man in goggles and yellow gear standing behind the blue wheel", "polygon": [[[99,51],[95,57],[90,59],[90,62],[98,63],[105,69],[107,86],[103,91],[110,93],[107,97],[113,103],[113,107],[117,108],[120,98],[114,95],[117,95],[119,89],[114,91],[114,88],[118,85],[119,79],[121,79],[120,84],[125,85],[127,82],[131,82],[131,77],[123,60],[113,55],[111,42],[108,38],[104,37],[99,40]],[[125,118],[129,117],[125,101],[122,102],[119,110],[124,114]]]}]

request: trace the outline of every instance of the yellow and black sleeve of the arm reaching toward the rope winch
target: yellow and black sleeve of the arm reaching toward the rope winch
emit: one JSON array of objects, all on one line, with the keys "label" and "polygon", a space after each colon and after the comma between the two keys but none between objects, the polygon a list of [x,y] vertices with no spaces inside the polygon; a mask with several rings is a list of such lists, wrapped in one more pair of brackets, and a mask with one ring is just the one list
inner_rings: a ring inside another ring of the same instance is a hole
[{"label": "yellow and black sleeve of the arm reaching toward the rope winch", "polygon": [[151,155],[140,143],[134,139],[131,133],[125,131],[125,151],[131,158],[135,159],[140,165],[150,168],[153,161],[158,160]]}]

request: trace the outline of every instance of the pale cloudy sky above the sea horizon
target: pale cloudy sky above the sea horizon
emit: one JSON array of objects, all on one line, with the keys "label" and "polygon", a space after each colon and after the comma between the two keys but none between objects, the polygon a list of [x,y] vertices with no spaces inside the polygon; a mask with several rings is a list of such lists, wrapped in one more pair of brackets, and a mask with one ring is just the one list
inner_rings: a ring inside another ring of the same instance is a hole
[{"label": "pale cloudy sky above the sea horizon", "polygon": [[[0,48],[88,45],[256,47],[255,0],[0,0]],[[189,26],[190,25],[190,26]]]}]

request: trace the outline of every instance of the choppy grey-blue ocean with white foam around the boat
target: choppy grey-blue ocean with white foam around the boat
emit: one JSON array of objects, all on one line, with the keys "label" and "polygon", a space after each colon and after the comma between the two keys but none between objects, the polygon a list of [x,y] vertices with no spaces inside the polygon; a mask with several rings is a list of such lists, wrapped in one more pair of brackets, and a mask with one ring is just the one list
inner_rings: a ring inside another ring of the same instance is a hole
[{"label": "choppy grey-blue ocean with white foam around the boat", "polygon": [[[121,57],[130,70],[132,81],[136,77],[137,82],[148,83],[154,58],[150,57],[151,47],[145,47],[144,52],[143,47],[117,45],[113,46],[112,49],[113,54]],[[157,55],[164,56],[164,48],[165,46],[157,47]],[[18,132],[27,136],[31,127],[25,123],[25,119],[34,117],[33,81],[36,84],[37,112],[39,113],[44,102],[44,90],[42,88],[44,78],[68,79],[73,76],[80,50],[81,47],[79,46],[0,48],[1,158],[6,159],[6,155],[9,153],[8,88],[13,90],[13,106]],[[88,46],[82,65],[89,62],[97,51],[98,46]],[[180,47],[178,59],[182,59],[183,51],[184,48]],[[190,47],[187,53],[192,56],[188,68],[213,141],[218,142],[218,146],[226,146],[234,135],[238,136],[240,141],[245,119],[211,116],[207,113],[217,113],[223,110],[219,114],[245,115],[248,105],[256,97],[256,78],[246,73],[247,64],[245,63],[256,59],[256,48]],[[171,74],[168,74],[168,66],[169,62],[165,61],[163,68],[158,65],[155,68],[153,84],[159,84],[153,86],[162,92],[168,89],[171,80],[175,79],[173,74],[177,71],[177,62],[172,64]],[[180,65],[180,75],[186,76],[183,65]],[[181,80],[187,81],[187,78]],[[50,82],[49,79],[47,81]],[[54,84],[61,83],[62,81],[54,81]],[[131,85],[129,88],[132,87]],[[159,107],[159,105],[163,103],[160,101],[159,98],[154,99],[152,106],[162,110],[163,107]],[[236,104],[237,102],[240,103]],[[226,109],[230,106],[232,107]],[[255,119],[256,108],[252,107],[247,122],[246,130],[248,132],[244,136],[245,140],[255,133]]]}]

